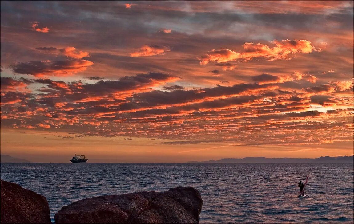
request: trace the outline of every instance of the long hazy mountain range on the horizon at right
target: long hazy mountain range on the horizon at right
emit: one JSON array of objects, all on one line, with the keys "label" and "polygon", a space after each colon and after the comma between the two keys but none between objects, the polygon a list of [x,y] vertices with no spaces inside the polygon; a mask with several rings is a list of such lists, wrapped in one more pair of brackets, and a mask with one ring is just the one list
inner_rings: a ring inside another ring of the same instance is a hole
[{"label": "long hazy mountain range on the horizon at right", "polygon": [[354,156],[325,156],[315,159],[246,157],[242,159],[225,158],[221,160],[208,160],[201,162],[189,161],[187,163],[354,163]]}]

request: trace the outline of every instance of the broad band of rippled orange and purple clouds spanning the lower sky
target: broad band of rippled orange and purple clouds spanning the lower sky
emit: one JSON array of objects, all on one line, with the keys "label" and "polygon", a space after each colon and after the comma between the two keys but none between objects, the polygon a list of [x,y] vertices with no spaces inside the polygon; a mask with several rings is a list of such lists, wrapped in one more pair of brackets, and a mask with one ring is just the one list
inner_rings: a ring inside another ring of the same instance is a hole
[{"label": "broad band of rippled orange and purple clouds spanning the lower sky", "polygon": [[[306,75],[284,77],[296,82]],[[353,81],[289,91],[279,87],[284,77],[263,74],[253,77],[259,82],[253,84],[198,89],[174,85],[164,90],[154,88],[179,78],[150,72],[96,83],[4,79],[2,123],[69,128],[84,136],[174,136],[200,142],[213,136],[212,141],[238,144],[301,145],[325,143],[329,136],[331,142],[352,137]],[[16,90],[36,83],[44,85],[41,93]],[[311,105],[339,108],[320,112],[310,110]],[[333,130],[341,134],[333,135]]]}]

